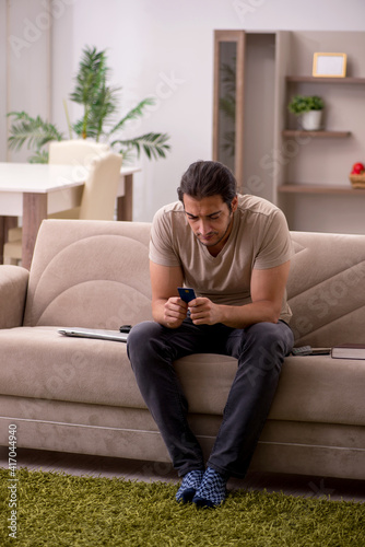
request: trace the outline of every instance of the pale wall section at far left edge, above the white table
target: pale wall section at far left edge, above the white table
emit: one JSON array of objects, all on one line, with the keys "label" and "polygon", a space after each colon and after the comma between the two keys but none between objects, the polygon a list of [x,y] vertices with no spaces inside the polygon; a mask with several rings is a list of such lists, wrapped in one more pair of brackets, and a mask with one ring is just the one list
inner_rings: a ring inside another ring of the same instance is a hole
[{"label": "pale wall section at far left edge, above the white table", "polygon": [[[5,115],[12,110],[25,110],[31,116],[50,115],[50,20],[45,9],[48,0],[1,0],[1,160],[12,160],[7,151]],[[16,161],[30,153],[15,154]]]}]

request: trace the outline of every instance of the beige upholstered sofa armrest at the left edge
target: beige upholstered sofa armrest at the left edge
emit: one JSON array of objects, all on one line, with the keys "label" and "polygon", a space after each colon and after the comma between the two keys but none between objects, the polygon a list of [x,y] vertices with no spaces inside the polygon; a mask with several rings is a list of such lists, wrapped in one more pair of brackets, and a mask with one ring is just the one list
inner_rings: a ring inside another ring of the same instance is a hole
[{"label": "beige upholstered sofa armrest at the left edge", "polygon": [[20,266],[0,266],[0,328],[23,324],[30,272]]}]

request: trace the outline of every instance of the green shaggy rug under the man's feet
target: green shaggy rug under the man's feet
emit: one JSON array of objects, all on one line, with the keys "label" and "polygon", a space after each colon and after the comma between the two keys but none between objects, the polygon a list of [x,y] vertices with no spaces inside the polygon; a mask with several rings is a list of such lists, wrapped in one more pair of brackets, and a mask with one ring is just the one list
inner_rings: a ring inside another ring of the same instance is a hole
[{"label": "green shaggy rug under the man's feet", "polygon": [[[0,545],[298,547],[365,545],[365,504],[236,490],[215,510],[177,485],[0,469]],[[16,480],[15,480],[16,479]]]}]

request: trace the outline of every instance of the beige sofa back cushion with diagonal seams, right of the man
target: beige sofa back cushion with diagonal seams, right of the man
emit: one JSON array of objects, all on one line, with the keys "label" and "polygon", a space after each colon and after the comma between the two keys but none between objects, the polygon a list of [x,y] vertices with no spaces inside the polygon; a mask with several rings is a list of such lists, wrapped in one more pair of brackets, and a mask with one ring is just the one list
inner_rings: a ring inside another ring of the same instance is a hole
[{"label": "beige sofa back cushion with diagonal seams, right of the man", "polygon": [[291,234],[287,298],[296,345],[365,342],[365,235]]}]

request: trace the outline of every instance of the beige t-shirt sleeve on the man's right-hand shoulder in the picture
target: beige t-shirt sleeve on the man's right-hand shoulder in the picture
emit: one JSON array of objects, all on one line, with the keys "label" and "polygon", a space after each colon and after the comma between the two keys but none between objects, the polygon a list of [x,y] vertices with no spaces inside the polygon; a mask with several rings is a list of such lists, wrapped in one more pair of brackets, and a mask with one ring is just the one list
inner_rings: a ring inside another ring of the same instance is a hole
[{"label": "beige t-shirt sleeve on the man's right-hand shoulder in the picture", "polygon": [[292,256],[292,238],[285,216],[280,209],[275,209],[267,223],[254,268],[274,268],[290,260]]}]

